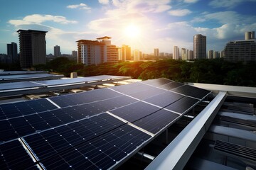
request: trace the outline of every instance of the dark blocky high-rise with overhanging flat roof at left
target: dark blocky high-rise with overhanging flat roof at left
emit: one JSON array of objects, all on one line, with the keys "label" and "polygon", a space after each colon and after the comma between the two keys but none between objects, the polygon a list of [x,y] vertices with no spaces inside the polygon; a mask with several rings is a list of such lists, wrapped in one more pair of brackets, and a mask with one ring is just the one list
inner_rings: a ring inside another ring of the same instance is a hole
[{"label": "dark blocky high-rise with overhanging flat roof at left", "polygon": [[18,30],[21,68],[46,64],[46,33],[41,30]]}]

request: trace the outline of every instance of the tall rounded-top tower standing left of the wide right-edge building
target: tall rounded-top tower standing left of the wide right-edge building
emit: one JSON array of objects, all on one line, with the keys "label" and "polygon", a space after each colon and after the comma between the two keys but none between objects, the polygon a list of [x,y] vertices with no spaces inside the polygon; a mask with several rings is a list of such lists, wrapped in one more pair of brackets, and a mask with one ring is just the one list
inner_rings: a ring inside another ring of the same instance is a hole
[{"label": "tall rounded-top tower standing left of the wide right-edge building", "polygon": [[201,34],[193,36],[193,51],[195,59],[206,59],[206,36]]}]

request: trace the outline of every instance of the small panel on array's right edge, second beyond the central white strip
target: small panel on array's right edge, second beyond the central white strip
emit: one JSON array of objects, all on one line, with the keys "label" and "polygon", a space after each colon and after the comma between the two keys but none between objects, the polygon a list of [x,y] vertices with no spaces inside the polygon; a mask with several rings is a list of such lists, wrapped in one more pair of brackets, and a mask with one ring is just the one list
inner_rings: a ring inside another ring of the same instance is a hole
[{"label": "small panel on array's right edge, second beyond the central white strip", "polygon": [[171,105],[167,106],[166,108],[170,111],[174,111],[177,113],[185,113],[186,111],[190,110],[196,103],[198,103],[198,99],[191,98],[191,97],[183,97],[180,100],[172,103]]}]

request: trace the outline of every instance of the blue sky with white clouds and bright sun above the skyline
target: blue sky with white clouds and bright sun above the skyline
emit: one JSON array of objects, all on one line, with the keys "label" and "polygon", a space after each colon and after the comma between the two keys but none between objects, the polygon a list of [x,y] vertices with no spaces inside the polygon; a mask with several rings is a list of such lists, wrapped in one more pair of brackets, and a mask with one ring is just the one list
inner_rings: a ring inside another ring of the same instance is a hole
[{"label": "blue sky with white clouds and bright sun above the skyline", "polygon": [[[78,50],[77,40],[111,37],[112,45],[153,53],[193,50],[193,35],[207,38],[207,51],[256,31],[256,0],[0,0],[0,53],[17,30],[43,30],[46,53]],[[19,51],[19,50],[18,50]]]}]

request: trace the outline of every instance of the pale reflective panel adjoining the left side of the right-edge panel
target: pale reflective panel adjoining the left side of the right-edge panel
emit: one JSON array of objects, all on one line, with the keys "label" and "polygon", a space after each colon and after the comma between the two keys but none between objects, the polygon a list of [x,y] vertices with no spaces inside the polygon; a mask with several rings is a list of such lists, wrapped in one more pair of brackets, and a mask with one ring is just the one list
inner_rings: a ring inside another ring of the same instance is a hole
[{"label": "pale reflective panel adjoining the left side of the right-edge panel", "polygon": [[170,105],[171,103],[174,103],[175,101],[178,101],[179,99],[183,98],[184,96],[181,94],[176,94],[171,91],[165,91],[162,94],[153,96],[151,98],[147,98],[145,101],[148,103],[152,103],[156,106],[166,107]]}]

